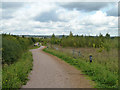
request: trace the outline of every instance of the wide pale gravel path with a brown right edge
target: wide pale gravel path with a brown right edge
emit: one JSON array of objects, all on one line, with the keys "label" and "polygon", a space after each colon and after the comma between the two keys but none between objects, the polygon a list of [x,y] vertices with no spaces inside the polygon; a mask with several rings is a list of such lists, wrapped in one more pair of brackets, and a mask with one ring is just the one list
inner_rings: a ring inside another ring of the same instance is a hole
[{"label": "wide pale gravel path with a brown right edge", "polygon": [[42,51],[31,50],[33,70],[22,88],[91,88],[90,81],[73,66]]}]

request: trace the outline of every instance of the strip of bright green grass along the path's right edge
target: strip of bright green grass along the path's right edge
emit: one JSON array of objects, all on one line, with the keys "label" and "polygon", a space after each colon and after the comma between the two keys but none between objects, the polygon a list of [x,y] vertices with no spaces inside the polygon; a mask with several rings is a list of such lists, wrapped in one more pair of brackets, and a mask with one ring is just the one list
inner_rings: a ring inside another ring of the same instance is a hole
[{"label": "strip of bright green grass along the path's right edge", "polygon": [[77,69],[82,70],[83,73],[96,82],[95,88],[117,88],[118,86],[118,74],[110,72],[103,65],[95,62],[89,63],[84,59],[74,59],[63,52],[53,49],[43,49],[43,51],[55,55]]}]

